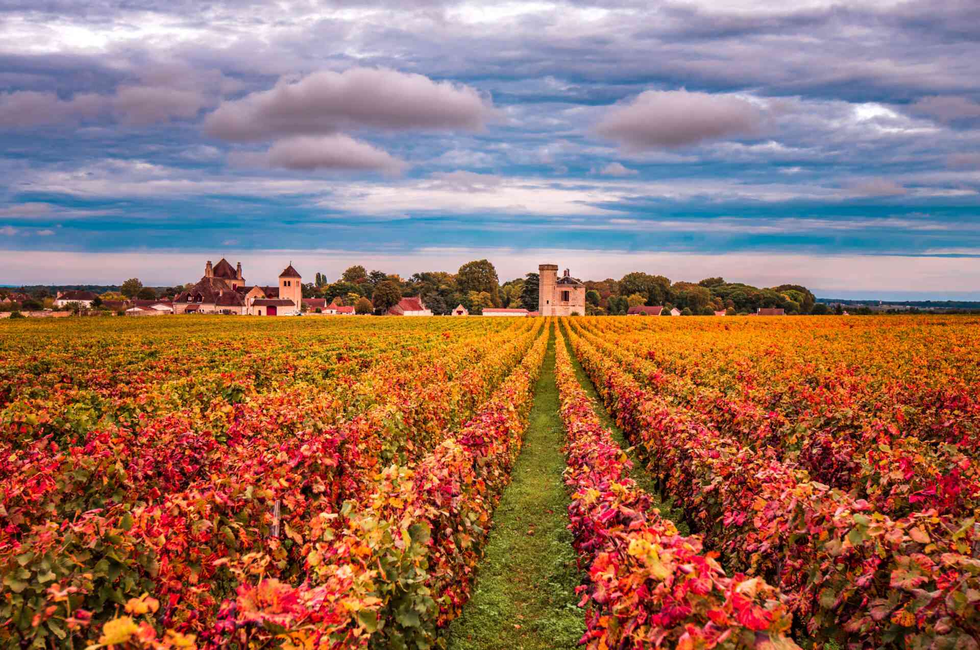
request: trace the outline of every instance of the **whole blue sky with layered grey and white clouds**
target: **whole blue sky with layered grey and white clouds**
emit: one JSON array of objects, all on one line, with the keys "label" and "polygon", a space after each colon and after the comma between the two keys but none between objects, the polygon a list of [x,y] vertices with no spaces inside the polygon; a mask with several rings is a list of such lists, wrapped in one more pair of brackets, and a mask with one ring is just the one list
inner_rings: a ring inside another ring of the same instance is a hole
[{"label": "whole blue sky with layered grey and white clouds", "polygon": [[980,297],[976,0],[0,0],[0,36],[0,282]]}]

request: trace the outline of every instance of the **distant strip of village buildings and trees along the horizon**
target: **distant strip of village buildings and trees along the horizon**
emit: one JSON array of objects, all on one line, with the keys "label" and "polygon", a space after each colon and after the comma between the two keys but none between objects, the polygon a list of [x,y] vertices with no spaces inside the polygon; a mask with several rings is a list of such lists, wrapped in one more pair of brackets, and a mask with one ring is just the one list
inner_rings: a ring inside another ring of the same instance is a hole
[{"label": "distant strip of village buildings and trees along the horizon", "polygon": [[[555,264],[503,283],[487,260],[456,273],[423,272],[408,278],[348,268],[332,282],[304,276],[285,263],[272,281],[251,282],[241,263],[204,261],[200,279],[172,287],[144,286],[136,277],[119,286],[48,290],[0,287],[0,318],[187,314],[226,316],[792,316],[918,311],[871,301],[819,301],[797,284],[759,288],[722,277],[698,282],[633,272],[619,279],[581,280]],[[922,308],[942,312],[948,308]]]}]

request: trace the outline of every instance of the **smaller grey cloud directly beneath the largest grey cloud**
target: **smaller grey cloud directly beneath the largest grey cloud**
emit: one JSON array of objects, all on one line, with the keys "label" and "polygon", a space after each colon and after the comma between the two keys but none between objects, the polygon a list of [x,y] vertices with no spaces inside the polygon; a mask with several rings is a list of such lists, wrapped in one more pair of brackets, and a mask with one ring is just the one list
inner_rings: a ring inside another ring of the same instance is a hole
[{"label": "smaller grey cloud directly beneath the largest grey cloud", "polygon": [[229,161],[302,172],[352,170],[399,175],[408,168],[405,161],[343,133],[284,138],[274,142],[265,153],[233,153]]}]

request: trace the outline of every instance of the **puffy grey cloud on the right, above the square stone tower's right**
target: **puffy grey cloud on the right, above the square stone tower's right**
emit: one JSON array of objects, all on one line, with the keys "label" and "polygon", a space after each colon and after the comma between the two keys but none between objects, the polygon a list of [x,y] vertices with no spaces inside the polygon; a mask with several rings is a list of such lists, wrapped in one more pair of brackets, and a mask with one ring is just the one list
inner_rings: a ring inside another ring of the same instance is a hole
[{"label": "puffy grey cloud on the right, above the square stone tower's right", "polygon": [[596,126],[628,150],[681,147],[760,132],[765,116],[740,97],[687,90],[648,90],[614,107]]}]

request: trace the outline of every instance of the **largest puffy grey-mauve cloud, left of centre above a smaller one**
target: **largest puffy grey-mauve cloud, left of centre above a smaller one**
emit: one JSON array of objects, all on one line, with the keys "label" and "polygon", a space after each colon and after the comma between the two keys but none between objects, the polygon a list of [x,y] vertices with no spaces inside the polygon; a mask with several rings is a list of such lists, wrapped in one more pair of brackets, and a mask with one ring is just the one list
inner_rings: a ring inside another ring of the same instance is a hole
[{"label": "largest puffy grey-mauve cloud, left of centre above a smaller one", "polygon": [[490,102],[470,86],[353,68],[281,80],[270,90],[224,102],[204,126],[215,137],[254,141],[356,126],[476,130],[495,115]]}]

